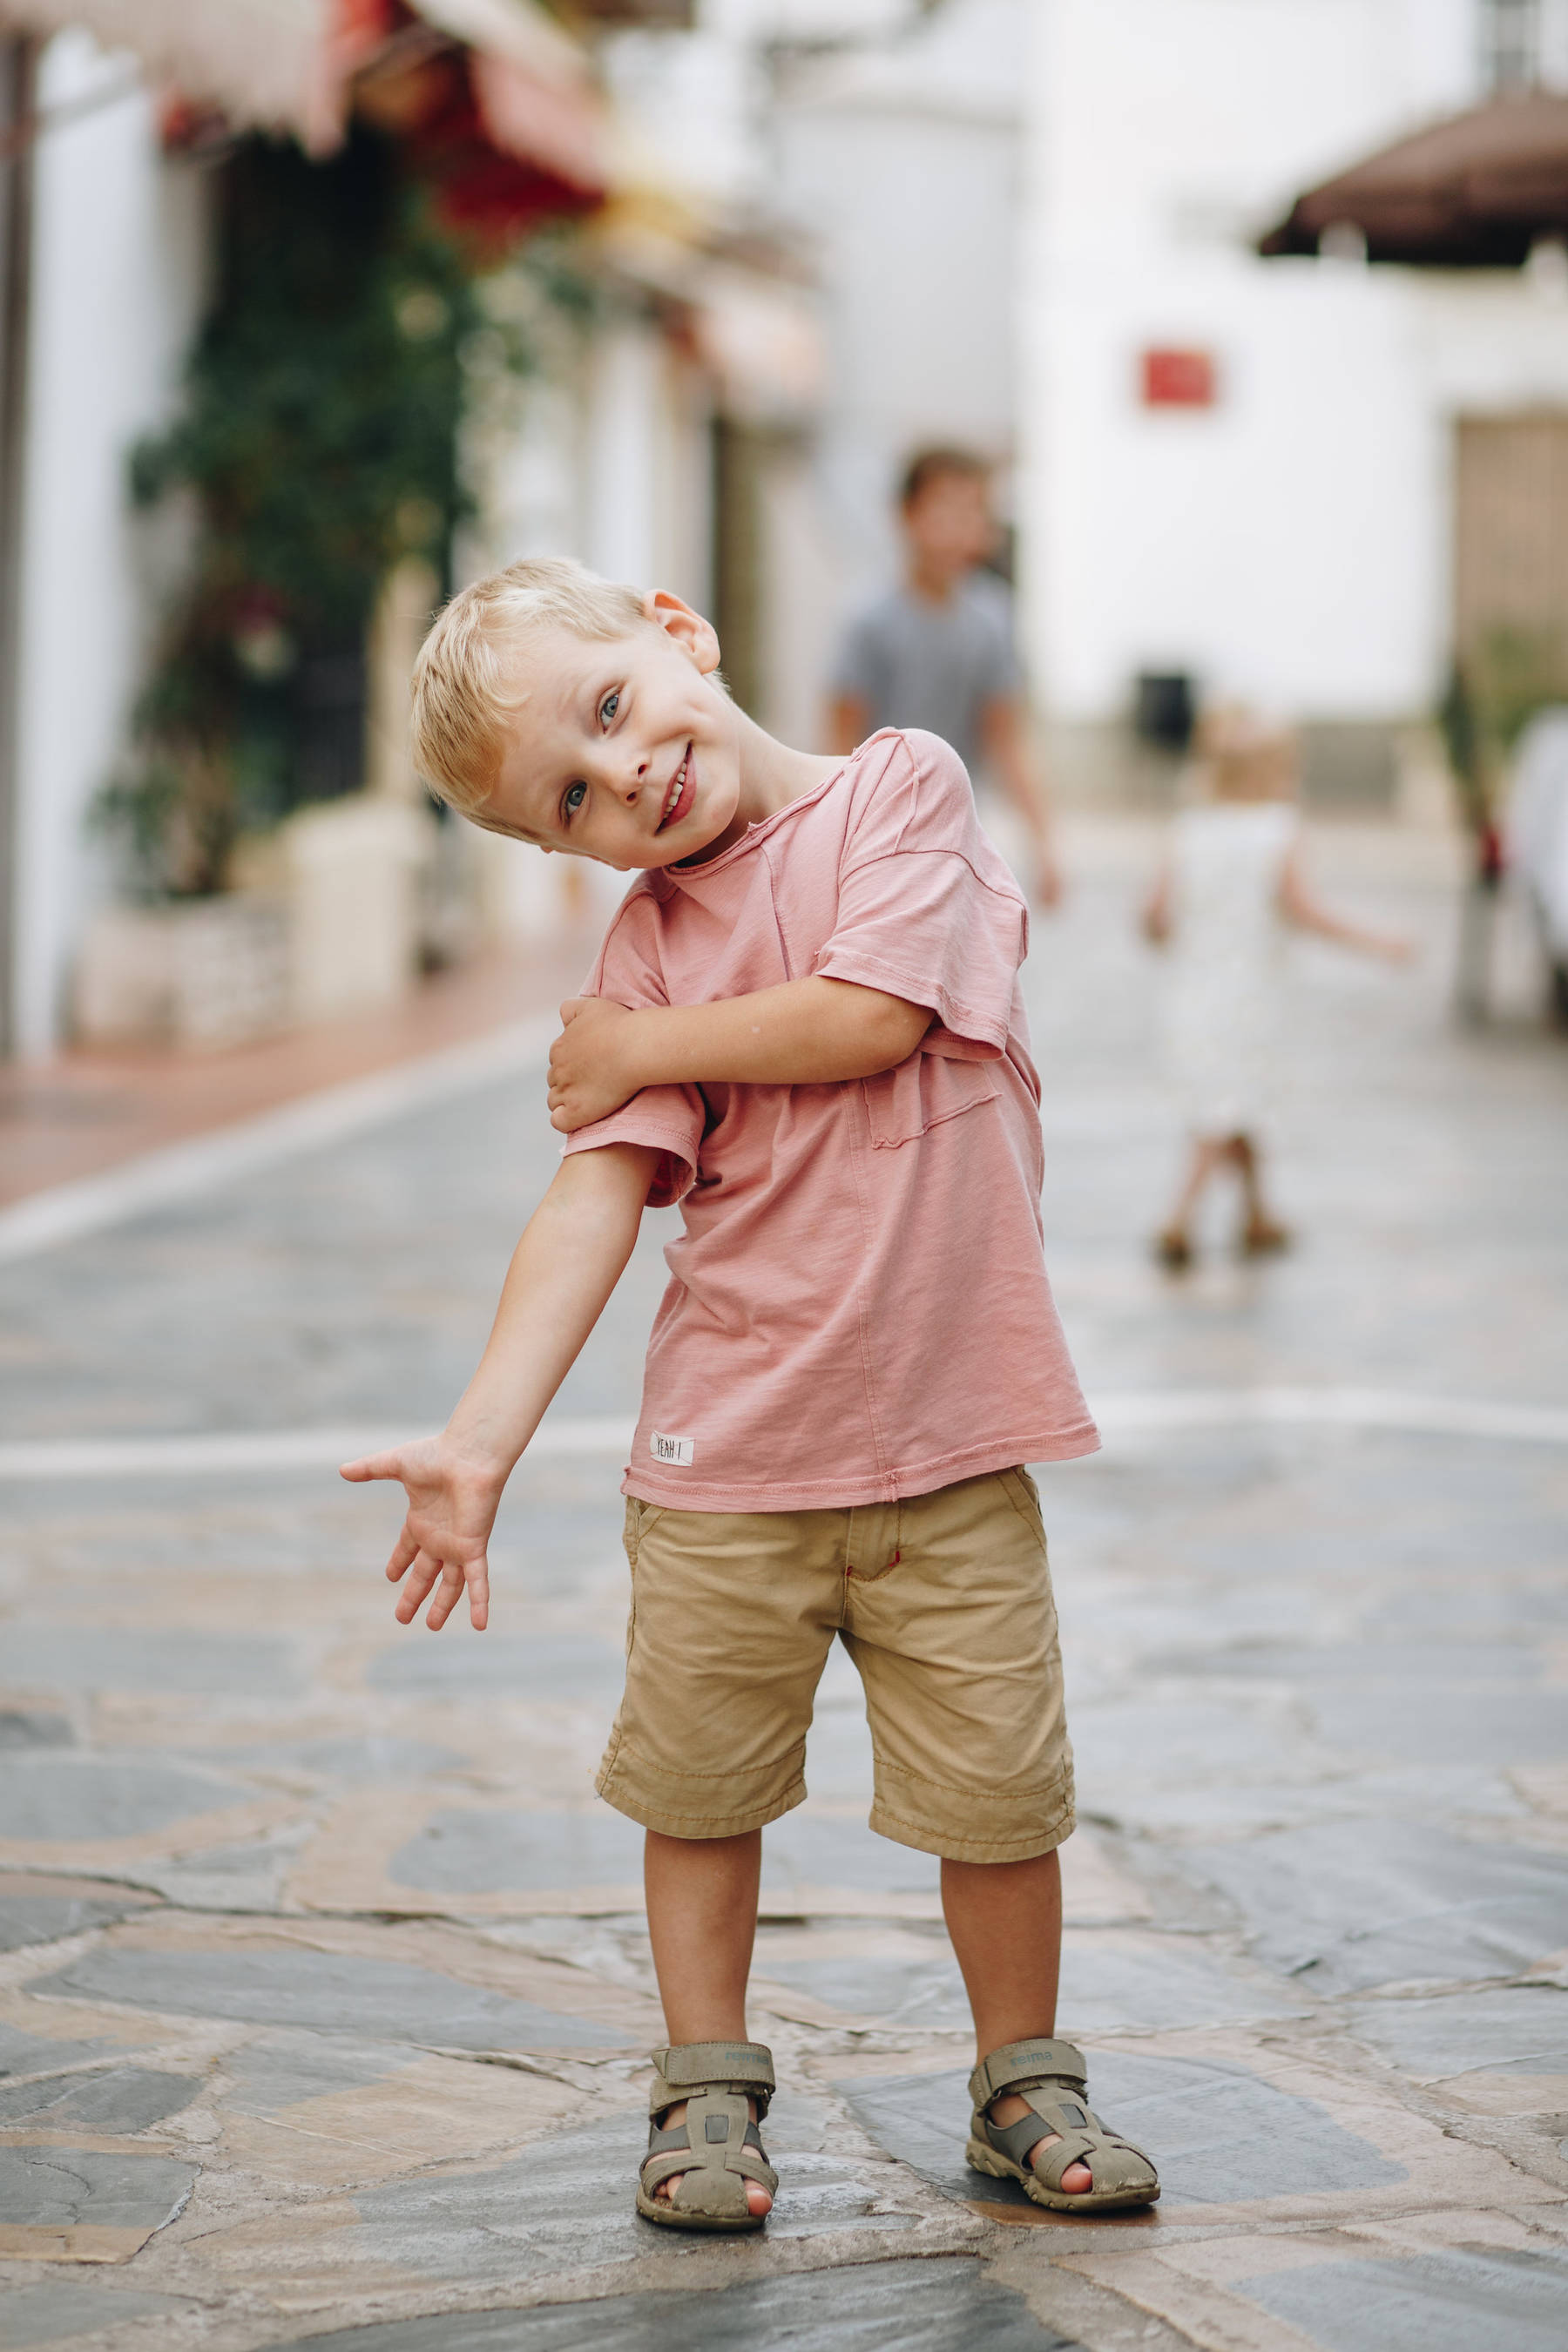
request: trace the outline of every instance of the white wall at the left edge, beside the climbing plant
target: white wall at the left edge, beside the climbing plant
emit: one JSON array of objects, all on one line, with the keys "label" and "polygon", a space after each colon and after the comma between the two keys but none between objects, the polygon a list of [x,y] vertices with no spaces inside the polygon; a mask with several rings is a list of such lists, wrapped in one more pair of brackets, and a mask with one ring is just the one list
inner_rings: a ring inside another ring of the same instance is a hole
[{"label": "white wall at the left edge, beside the climbing plant", "polygon": [[[110,80],[85,33],[42,59],[42,108]],[[205,181],[158,148],[134,92],[38,141],[24,489],[16,809],[16,1037],[61,1037],[101,861],[85,811],[125,746],[155,628],[125,454],[167,414],[205,285]]]}]

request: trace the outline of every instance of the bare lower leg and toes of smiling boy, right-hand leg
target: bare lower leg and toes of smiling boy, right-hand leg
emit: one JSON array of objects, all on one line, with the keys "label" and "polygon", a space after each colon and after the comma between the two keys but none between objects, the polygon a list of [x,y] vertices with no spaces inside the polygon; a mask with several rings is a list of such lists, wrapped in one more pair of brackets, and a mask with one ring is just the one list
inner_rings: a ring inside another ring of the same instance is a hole
[{"label": "bare lower leg and toes of smiling boy, right-hand leg", "polygon": [[[1037,1853],[1030,1863],[943,1863],[943,1917],[976,2020],[976,2058],[1009,2042],[1056,2034],[1056,1983],[1063,1966],[1063,1863]],[[1018,2124],[1030,2103],[1011,2091],[994,2098],[994,2124]],[[1034,2143],[1053,2147],[1060,2133]],[[1070,2164],[1063,2187],[1079,2197],[1093,2187],[1086,2164]]]}]

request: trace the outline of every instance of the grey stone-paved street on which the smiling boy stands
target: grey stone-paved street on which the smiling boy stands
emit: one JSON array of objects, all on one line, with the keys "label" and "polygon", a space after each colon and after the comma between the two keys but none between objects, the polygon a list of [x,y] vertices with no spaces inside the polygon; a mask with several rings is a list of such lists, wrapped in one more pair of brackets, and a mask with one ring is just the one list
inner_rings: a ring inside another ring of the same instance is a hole
[{"label": "grey stone-paved street on which the smiling boy stands", "polygon": [[1107,1444],[1041,1472],[1063,2032],[1159,2209],[1056,2220],[964,2169],[936,1863],[865,1828],[837,1656],[766,1832],[776,2218],[635,2218],[658,2011],[590,1773],[670,1218],[517,1472],[494,1630],[402,1632],[395,1496],[331,1477],[334,1432],[447,1411],[552,1164],[536,1075],[416,1073],[0,1263],[0,2347],[1561,2352],[1568,1049],[1455,1037],[1446,844],[1342,828],[1324,880],[1427,953],[1300,950],[1300,1247],[1239,1265],[1215,1216],[1173,1282],[1152,835],[1070,847],[1030,988]]}]

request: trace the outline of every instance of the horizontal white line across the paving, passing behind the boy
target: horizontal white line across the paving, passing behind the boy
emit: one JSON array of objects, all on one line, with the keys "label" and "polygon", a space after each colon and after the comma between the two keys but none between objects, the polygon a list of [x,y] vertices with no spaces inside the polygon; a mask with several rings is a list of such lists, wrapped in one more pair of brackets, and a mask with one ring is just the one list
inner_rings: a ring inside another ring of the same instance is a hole
[{"label": "horizontal white line across the paving, passing behind the boy", "polygon": [[[1568,1411],[1493,1404],[1486,1397],[1422,1397],[1389,1388],[1173,1388],[1107,1390],[1093,1399],[1110,1446],[1185,1430],[1392,1430],[1568,1444]],[[202,1430],[183,1437],[40,1437],[0,1444],[0,1479],[226,1477],[247,1470],[336,1470],[418,1435],[414,1428]],[[632,1423],[621,1414],[548,1414],[531,1456],[625,1456]]]}]

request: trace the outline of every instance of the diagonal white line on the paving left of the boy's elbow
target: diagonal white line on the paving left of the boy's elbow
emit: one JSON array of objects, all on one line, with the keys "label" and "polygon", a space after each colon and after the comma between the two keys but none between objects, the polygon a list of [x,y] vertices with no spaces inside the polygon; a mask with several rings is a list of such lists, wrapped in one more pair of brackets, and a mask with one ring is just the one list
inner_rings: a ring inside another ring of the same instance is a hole
[{"label": "diagonal white line on the paving left of the boy's elbow", "polygon": [[0,1209],[0,1263],[31,1258],[40,1249],[78,1242],[87,1232],[103,1232],[108,1225],[122,1225],[150,1209],[167,1209],[190,1200],[193,1192],[252,1176],[256,1169],[270,1169],[301,1152],[343,1143],[367,1127],[381,1127],[409,1110],[444,1103],[473,1087],[484,1087],[489,1080],[543,1070],[557,1030],[559,1021],[552,1014],[510,1021],[470,1044],[421,1054],[418,1061],[378,1070],[374,1077],[348,1080],[343,1087],[322,1087],[280,1110],[263,1110],[254,1120],[237,1120],[233,1127],[193,1136],[188,1143],[143,1152],[103,1176],[82,1176],[78,1183],[33,1192],[28,1200]]}]

